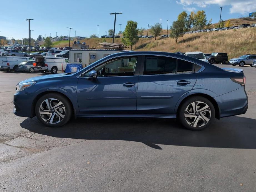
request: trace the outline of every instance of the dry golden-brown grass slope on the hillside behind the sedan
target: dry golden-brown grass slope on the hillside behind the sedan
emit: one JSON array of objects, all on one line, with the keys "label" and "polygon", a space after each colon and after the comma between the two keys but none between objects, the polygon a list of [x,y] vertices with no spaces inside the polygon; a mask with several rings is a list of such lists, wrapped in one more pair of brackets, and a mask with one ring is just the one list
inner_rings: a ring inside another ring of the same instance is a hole
[{"label": "dry golden-brown grass slope on the hillside behind the sedan", "polygon": [[219,32],[187,34],[175,43],[173,38],[159,40],[141,39],[135,46],[136,51],[203,53],[224,52],[229,58],[256,53],[256,28],[244,28]]}]

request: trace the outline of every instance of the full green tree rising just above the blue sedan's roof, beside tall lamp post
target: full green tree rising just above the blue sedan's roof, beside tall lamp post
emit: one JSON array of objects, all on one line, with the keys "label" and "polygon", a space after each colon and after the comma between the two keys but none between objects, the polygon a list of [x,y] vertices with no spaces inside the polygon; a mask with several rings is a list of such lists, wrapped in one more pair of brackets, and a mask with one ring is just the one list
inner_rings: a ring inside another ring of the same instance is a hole
[{"label": "full green tree rising just above the blue sedan's roof, beside tall lamp post", "polygon": [[127,21],[127,25],[123,32],[123,37],[122,43],[125,45],[130,45],[132,50],[132,46],[139,41],[137,22],[131,20]]}]

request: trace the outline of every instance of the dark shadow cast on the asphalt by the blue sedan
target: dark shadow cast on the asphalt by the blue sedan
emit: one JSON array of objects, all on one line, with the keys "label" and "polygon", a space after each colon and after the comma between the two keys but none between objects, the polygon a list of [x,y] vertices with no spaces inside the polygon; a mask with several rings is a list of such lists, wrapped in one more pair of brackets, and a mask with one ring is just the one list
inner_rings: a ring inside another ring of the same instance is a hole
[{"label": "dark shadow cast on the asphalt by the blue sedan", "polygon": [[183,128],[174,119],[79,118],[59,128],[27,118],[21,127],[31,132],[86,140],[124,140],[142,142],[155,149],[161,145],[256,149],[256,120],[233,116],[214,120],[202,131]]}]

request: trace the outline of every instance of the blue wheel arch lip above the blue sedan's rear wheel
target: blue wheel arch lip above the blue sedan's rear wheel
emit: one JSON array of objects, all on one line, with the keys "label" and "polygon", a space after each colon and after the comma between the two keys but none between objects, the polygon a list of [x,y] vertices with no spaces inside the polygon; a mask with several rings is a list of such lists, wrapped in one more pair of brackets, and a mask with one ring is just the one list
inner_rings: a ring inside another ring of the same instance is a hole
[{"label": "blue wheel arch lip above the blue sedan's rear wheel", "polygon": [[217,119],[220,119],[220,109],[219,109],[219,105],[218,103],[215,101],[215,99],[213,97],[211,97],[210,95],[207,95],[207,94],[203,94],[203,93],[195,93],[195,94],[191,94],[191,95],[187,95],[187,97],[184,97],[179,105],[177,106],[177,110],[176,110],[176,114],[178,114],[178,111],[180,110],[180,107],[182,106],[182,104],[188,99],[188,98],[191,98],[191,97],[194,97],[194,96],[201,96],[201,97],[204,97],[204,98],[207,98],[214,106],[214,109],[215,109],[215,118]]}]

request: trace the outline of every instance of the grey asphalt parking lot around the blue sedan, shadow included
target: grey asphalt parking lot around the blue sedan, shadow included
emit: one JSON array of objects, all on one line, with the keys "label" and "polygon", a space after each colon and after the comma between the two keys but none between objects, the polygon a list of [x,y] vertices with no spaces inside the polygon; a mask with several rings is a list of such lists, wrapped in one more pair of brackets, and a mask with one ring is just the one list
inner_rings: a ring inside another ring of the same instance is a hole
[{"label": "grey asphalt parking lot around the blue sedan, shadow included", "polygon": [[18,82],[0,71],[0,191],[256,191],[256,69],[247,113],[190,131],[172,119],[81,118],[60,128],[12,113]]}]

